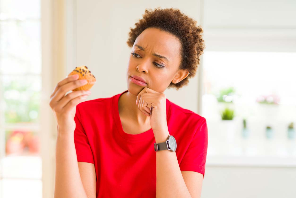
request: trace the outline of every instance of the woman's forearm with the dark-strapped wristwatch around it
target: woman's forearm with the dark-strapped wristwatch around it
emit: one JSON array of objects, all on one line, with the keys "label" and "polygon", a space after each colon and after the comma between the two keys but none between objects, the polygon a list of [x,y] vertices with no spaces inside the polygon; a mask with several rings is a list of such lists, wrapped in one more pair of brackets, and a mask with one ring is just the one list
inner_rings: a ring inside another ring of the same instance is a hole
[{"label": "woman's forearm with the dark-strapped wristwatch around it", "polygon": [[[155,142],[165,142],[169,132],[154,131]],[[178,148],[177,148],[178,149]],[[156,198],[191,198],[178,164],[176,152],[161,150],[156,152]]]}]

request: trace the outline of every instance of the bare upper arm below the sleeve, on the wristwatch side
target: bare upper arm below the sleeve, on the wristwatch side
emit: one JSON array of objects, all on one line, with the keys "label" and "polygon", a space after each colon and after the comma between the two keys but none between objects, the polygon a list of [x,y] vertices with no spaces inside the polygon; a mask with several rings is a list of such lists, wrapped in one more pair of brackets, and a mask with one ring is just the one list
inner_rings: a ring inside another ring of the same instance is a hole
[{"label": "bare upper arm below the sleeve, on the wristwatch side", "polygon": [[200,198],[203,175],[194,171],[181,171],[187,189],[192,198]]}]

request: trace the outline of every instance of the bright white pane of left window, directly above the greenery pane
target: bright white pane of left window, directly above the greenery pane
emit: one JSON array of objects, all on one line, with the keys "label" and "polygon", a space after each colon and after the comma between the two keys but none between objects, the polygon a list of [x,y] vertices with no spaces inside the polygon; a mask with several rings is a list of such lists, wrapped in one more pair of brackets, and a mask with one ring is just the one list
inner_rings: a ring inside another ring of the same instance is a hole
[{"label": "bright white pane of left window, directly above the greenery pane", "polygon": [[1,74],[41,74],[40,27],[40,20],[0,21]]}]

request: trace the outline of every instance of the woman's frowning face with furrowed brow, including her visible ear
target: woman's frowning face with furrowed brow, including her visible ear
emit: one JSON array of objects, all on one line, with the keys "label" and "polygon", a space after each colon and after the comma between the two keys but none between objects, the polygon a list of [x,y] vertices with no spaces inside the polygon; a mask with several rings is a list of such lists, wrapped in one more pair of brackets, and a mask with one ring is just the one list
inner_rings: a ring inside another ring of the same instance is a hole
[{"label": "woman's frowning face with furrowed brow, including her visible ear", "polygon": [[[181,43],[172,34],[157,28],[145,29],[136,39],[127,67],[128,91],[139,93],[148,87],[159,93],[173,83],[188,76],[188,71],[178,70],[181,63]],[[142,77],[146,84],[133,83],[133,75]]]}]

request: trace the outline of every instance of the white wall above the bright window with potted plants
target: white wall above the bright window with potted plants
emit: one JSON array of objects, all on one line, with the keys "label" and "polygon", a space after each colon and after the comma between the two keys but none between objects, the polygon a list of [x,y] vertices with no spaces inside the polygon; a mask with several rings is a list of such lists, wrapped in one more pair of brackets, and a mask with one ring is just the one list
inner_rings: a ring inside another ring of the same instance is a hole
[{"label": "white wall above the bright window with potted plants", "polygon": [[205,0],[207,50],[296,51],[293,0]]}]

